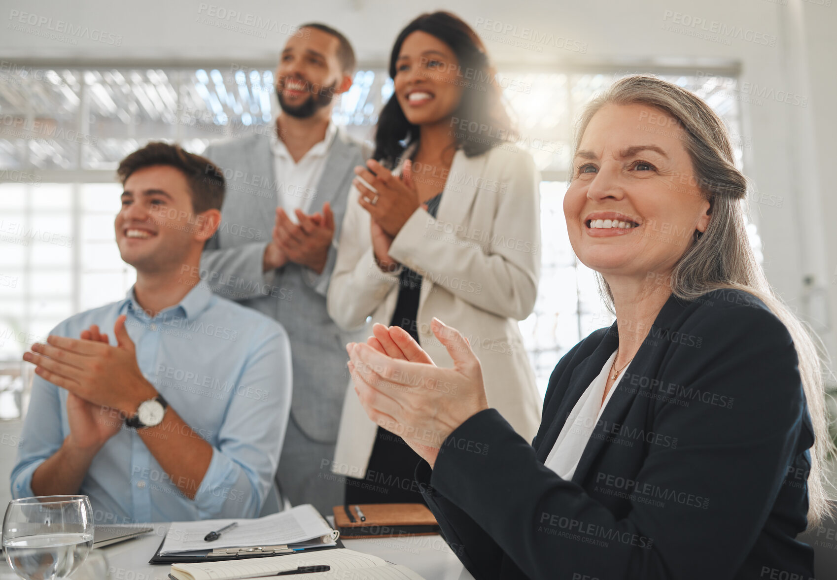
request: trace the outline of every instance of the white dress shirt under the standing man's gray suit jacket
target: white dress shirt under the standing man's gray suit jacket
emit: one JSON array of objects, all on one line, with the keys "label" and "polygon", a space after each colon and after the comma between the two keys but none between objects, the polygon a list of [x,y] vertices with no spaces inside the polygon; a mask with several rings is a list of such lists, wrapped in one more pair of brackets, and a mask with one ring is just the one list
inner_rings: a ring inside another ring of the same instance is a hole
[{"label": "white dress shirt under the standing man's gray suit jacket", "polygon": [[285,208],[290,220],[296,223],[295,209],[305,213],[316,213],[320,208],[311,208],[316,187],[326,168],[326,157],[337,127],[331,121],[326,128],[325,138],[311,147],[299,162],[294,162],[285,142],[276,133],[270,137],[270,151],[273,151],[276,191],[279,193],[277,207]]}]

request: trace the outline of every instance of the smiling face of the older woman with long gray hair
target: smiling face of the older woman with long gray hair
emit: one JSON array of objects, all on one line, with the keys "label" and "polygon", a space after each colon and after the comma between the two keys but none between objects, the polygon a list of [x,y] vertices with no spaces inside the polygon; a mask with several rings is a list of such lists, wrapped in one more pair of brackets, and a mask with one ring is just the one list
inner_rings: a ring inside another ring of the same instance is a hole
[{"label": "smiling face of the older woman with long gray hair", "polygon": [[697,186],[686,132],[648,105],[605,105],[593,115],[573,159],[564,197],[578,259],[604,275],[667,275],[706,231],[710,204]]}]

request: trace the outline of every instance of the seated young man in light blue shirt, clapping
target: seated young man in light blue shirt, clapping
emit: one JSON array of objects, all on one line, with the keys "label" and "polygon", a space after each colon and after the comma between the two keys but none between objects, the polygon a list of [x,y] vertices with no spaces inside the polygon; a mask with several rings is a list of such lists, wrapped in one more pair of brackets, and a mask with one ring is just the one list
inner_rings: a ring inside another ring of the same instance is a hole
[{"label": "seated young man in light blue shirt, clapping", "polygon": [[199,278],[223,177],[165,143],[118,174],[116,243],[136,285],[23,355],[36,377],[12,494],[89,495],[100,523],[258,516],[290,413],[290,345]]}]

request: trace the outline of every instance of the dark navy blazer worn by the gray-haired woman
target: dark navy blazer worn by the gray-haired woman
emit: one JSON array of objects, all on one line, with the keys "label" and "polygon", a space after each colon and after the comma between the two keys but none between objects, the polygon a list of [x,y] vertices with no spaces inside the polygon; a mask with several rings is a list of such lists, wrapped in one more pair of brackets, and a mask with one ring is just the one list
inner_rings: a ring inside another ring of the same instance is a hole
[{"label": "dark navy blazer worn by the gray-haired woman", "polygon": [[465,567],[478,580],[813,577],[795,537],[814,431],[782,322],[738,290],[670,297],[562,480],[544,460],[617,346],[614,323],[562,357],[532,445],[488,409],[432,472],[419,463]]}]

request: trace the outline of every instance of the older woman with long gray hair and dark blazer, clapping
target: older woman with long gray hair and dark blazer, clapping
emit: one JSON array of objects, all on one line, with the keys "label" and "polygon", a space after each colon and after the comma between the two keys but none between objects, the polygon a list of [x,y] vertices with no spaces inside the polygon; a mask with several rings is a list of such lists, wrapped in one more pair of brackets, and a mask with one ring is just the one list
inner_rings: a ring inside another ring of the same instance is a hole
[{"label": "older woman with long gray hair and dark blazer, clapping", "polygon": [[829,510],[820,364],[747,242],[726,128],[651,76],[578,128],[567,232],[616,321],[558,362],[533,443],[438,320],[454,368],[394,327],[347,347],[363,408],[424,459],[424,498],[480,580],[813,577],[795,537]]}]

